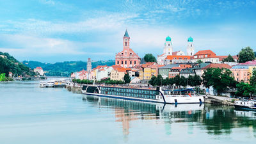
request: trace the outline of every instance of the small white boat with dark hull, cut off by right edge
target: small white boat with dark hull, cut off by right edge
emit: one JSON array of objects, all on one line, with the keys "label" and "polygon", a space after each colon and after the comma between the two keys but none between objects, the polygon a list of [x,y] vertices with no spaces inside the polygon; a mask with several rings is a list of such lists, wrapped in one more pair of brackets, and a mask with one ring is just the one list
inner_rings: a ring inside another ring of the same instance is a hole
[{"label": "small white boat with dark hull, cut off by right edge", "polygon": [[234,106],[236,109],[256,111],[256,100],[236,100]]}]

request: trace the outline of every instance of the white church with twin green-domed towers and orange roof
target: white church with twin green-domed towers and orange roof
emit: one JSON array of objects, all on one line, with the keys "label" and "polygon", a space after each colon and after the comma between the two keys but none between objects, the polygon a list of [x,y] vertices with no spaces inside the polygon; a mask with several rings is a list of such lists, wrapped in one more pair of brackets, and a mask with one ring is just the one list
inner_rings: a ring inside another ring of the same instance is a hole
[{"label": "white church with twin green-domed towers and orange roof", "polygon": [[[165,38],[164,43],[164,52],[160,56],[157,56],[157,63],[159,65],[167,65],[170,63],[173,63],[173,61],[183,61],[188,62],[190,59],[190,56],[193,56],[195,54],[195,47],[193,44],[193,38],[190,36],[188,38],[188,46],[187,46],[187,52],[183,51],[175,51],[173,52],[172,47],[172,38],[170,36],[167,36]],[[169,60],[170,59],[170,60]]]}]

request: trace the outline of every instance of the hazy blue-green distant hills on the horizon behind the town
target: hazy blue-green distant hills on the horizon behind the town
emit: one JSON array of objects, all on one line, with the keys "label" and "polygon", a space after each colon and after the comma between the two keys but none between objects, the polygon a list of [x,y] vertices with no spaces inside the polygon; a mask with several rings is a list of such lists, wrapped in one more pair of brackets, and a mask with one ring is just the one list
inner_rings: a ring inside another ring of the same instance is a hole
[{"label": "hazy blue-green distant hills on the horizon behind the town", "polygon": [[[22,61],[22,63],[31,69],[42,67],[46,76],[70,76],[71,72],[86,70],[87,62],[84,61],[64,61],[58,63],[41,63],[38,61]],[[98,65],[115,65],[115,60],[92,61],[92,68]]]}]

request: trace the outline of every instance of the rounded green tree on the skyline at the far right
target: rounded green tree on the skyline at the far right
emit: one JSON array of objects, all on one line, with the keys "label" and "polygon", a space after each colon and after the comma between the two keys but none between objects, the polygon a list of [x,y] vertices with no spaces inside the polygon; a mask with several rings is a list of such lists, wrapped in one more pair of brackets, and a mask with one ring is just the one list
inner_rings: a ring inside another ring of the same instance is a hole
[{"label": "rounded green tree on the skyline at the far right", "polygon": [[255,54],[251,47],[245,47],[239,52],[239,63],[245,63],[246,61],[255,60]]}]

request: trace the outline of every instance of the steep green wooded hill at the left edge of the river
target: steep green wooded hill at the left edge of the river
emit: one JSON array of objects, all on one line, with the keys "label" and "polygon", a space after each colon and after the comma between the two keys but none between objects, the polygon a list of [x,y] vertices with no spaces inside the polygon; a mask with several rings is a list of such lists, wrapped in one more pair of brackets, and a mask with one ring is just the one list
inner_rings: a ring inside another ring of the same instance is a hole
[{"label": "steep green wooded hill at the left edge of the river", "polygon": [[26,67],[7,52],[0,52],[0,74],[5,73],[6,76],[12,72],[14,76],[35,76],[35,72]]}]

